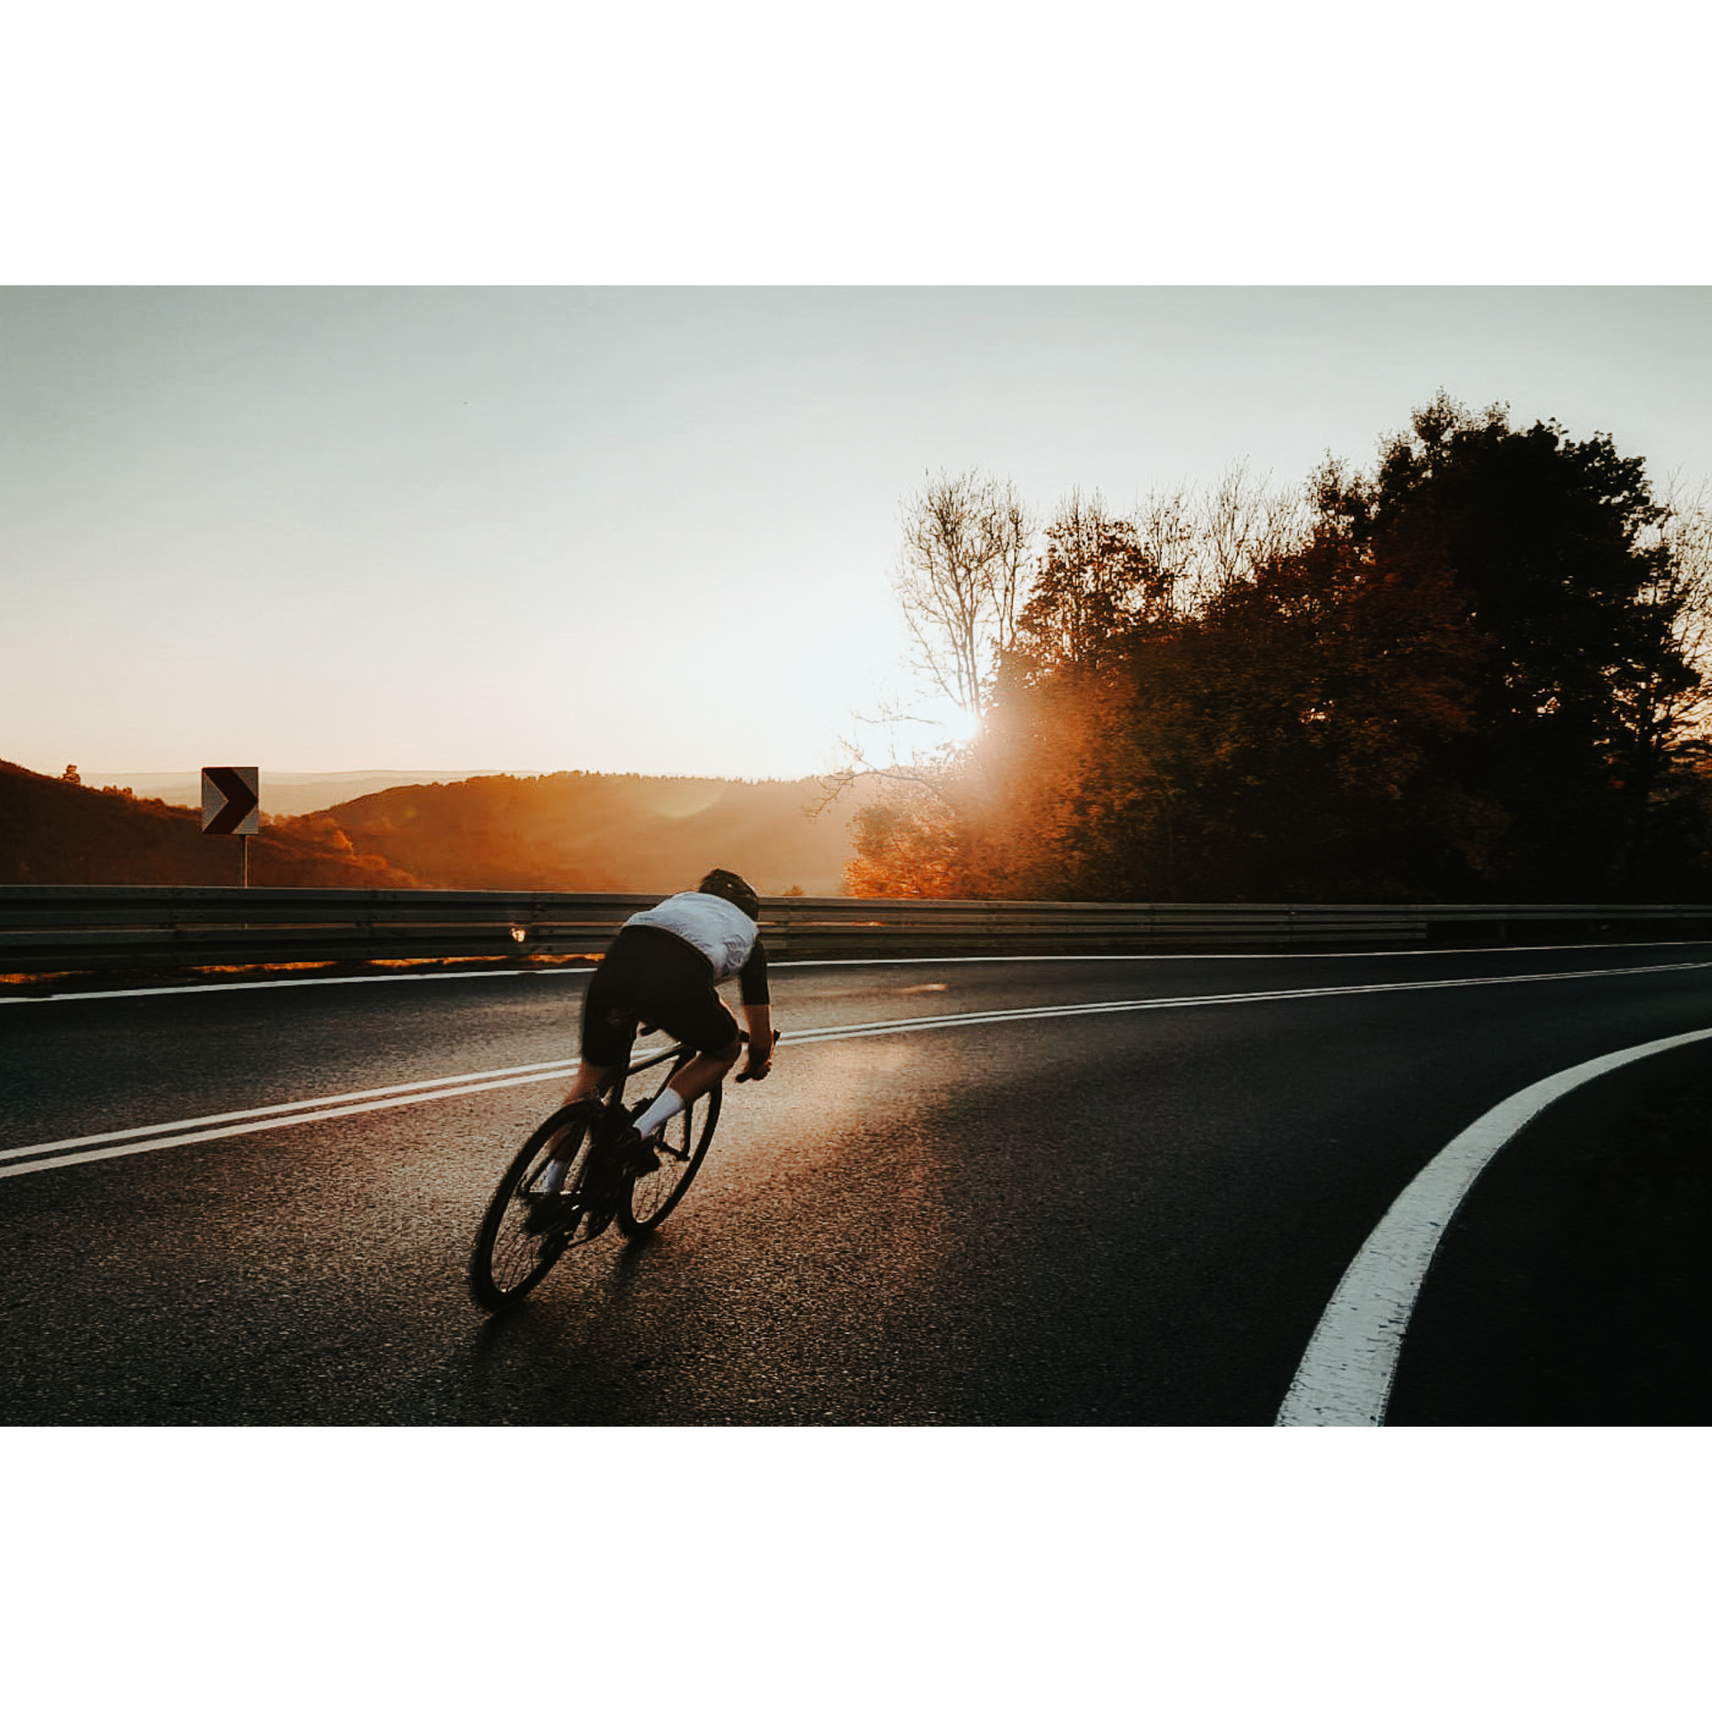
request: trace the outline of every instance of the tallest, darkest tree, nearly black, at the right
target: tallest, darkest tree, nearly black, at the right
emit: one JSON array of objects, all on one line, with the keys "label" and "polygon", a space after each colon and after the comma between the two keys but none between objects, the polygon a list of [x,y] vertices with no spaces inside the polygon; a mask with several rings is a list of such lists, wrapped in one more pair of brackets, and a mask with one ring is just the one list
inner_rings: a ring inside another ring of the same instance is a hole
[{"label": "tallest, darkest tree, nearly black, at the right", "polygon": [[1447,757],[1503,830],[1484,887],[1601,897],[1633,873],[1645,803],[1700,681],[1644,461],[1609,435],[1510,428],[1443,392],[1368,481],[1322,486],[1375,565],[1448,577],[1479,657],[1469,733]]}]

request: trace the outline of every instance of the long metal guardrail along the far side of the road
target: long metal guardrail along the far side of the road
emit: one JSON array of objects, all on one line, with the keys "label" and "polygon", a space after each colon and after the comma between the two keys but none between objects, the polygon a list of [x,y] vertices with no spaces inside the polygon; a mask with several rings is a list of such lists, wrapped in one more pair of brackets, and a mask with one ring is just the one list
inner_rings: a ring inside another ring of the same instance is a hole
[{"label": "long metal guardrail along the far side of the road", "polygon": [[[661,894],[0,887],[0,972],[599,954]],[[769,897],[777,959],[1712,935],[1712,904],[1053,904]]]}]

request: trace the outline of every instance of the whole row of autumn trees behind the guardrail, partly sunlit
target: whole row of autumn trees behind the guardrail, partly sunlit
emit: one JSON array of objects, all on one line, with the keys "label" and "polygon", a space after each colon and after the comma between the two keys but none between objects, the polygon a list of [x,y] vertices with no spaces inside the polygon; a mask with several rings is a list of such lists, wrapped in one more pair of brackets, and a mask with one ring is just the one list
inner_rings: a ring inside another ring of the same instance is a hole
[{"label": "whole row of autumn trees behind the guardrail, partly sunlit", "polygon": [[1712,880],[1712,529],[1609,435],[1440,394],[1371,469],[1036,534],[930,481],[897,592],[979,734],[853,750],[858,895],[1661,901]]}]

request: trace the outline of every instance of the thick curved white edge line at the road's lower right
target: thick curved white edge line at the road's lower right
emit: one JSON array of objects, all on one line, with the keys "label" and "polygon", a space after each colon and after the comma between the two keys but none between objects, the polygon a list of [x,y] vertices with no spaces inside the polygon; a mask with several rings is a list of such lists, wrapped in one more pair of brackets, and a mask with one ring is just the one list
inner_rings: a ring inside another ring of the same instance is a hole
[{"label": "thick curved white edge line at the road's lower right", "polygon": [[1349,1262],[1308,1339],[1277,1424],[1383,1426],[1397,1356],[1433,1251],[1498,1149],[1584,1082],[1693,1041],[1712,1041],[1712,1029],[1671,1034],[1560,1070],[1493,1106],[1428,1161]]}]

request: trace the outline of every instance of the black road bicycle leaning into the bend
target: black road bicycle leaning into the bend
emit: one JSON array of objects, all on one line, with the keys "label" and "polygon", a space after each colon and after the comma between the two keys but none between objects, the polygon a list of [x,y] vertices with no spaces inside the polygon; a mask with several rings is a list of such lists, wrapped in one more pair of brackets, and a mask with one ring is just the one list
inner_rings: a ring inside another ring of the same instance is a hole
[{"label": "black road bicycle leaning into the bend", "polygon": [[[656,1032],[647,1022],[637,1022],[637,1029]],[[748,1036],[741,1039],[748,1041]],[[615,1070],[601,1087],[596,1116],[562,1106],[524,1142],[500,1178],[476,1233],[469,1287],[479,1306],[490,1313],[515,1306],[567,1250],[594,1241],[613,1222],[635,1241],[656,1229],[683,1200],[719,1123],[719,1085],[649,1137],[659,1162],[656,1171],[637,1176],[625,1169],[615,1159],[615,1147],[632,1115],[644,1111],[693,1056],[693,1046],[669,1037],[640,1055],[632,1051],[630,1063]],[[664,1075],[651,1079],[647,1099],[627,1108],[625,1082],[661,1067]],[[748,1077],[740,1075],[738,1080]],[[568,1159],[570,1168],[563,1192],[546,1210],[536,1185],[553,1156]]]}]

